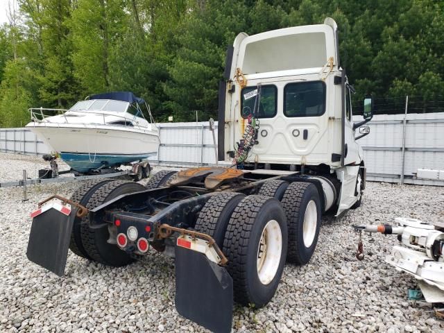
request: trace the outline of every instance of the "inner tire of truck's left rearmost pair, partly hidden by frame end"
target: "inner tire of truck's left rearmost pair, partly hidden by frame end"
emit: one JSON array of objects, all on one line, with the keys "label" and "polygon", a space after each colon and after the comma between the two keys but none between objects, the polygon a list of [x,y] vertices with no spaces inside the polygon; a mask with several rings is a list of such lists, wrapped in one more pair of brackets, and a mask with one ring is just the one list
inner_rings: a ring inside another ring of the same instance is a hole
[{"label": "inner tire of truck's left rearmost pair, partly hidden by frame end", "polygon": [[[105,182],[89,197],[87,207],[98,207],[112,198],[122,194],[142,191],[145,187],[137,182],[114,180]],[[92,229],[87,224],[89,216],[85,216],[85,223],[80,225],[80,236],[83,248],[90,259],[107,266],[124,266],[134,261],[128,253],[120,250],[117,245],[109,244],[110,232],[108,228]]]}]

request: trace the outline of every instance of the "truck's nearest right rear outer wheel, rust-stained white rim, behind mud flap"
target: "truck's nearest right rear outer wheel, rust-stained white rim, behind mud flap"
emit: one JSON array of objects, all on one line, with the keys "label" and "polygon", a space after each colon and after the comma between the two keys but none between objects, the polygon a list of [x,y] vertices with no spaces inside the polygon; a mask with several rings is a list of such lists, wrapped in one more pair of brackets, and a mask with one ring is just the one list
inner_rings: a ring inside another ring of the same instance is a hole
[{"label": "truck's nearest right rear outer wheel, rust-stained white rim, behind mud flap", "polygon": [[263,307],[273,298],[287,255],[287,223],[279,200],[246,196],[234,209],[223,241],[234,300]]}]

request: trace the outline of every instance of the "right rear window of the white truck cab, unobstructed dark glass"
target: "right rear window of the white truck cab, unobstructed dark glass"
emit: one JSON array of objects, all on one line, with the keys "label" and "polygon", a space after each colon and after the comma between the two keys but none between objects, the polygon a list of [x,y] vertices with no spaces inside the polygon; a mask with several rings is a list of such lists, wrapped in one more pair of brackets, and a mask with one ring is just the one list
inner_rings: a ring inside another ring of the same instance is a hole
[{"label": "right rear window of the white truck cab, unobstructed dark glass", "polygon": [[284,88],[284,114],[287,117],[317,117],[325,112],[325,83],[289,83]]}]

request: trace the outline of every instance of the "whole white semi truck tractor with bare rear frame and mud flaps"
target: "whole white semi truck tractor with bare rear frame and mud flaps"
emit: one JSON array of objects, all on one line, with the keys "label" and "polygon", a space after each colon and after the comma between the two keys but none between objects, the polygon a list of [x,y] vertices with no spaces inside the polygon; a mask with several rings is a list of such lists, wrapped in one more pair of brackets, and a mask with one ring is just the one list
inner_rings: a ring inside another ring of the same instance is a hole
[{"label": "whole white semi truck tractor with bare rear frame and mud flaps", "polygon": [[28,259],[63,275],[68,249],[108,266],[164,253],[176,264],[179,314],[230,332],[233,302],[264,307],[284,264],[309,262],[322,214],[361,204],[357,139],[369,132],[359,127],[372,99],[354,123],[338,45],[330,18],[240,33],[219,89],[224,166],[160,171],[146,187],[94,180],[69,199],[52,196],[31,214]]}]

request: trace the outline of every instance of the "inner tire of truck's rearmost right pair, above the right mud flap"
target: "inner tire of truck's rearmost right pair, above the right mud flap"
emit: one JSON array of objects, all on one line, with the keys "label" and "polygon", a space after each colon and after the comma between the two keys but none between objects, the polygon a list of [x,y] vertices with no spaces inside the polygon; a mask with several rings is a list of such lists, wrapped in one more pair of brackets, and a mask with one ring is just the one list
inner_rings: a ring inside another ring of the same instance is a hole
[{"label": "inner tire of truck's rearmost right pair, above the right mud flap", "polygon": [[219,248],[222,248],[231,214],[243,198],[245,198],[245,194],[237,192],[215,194],[200,210],[194,229],[209,234]]}]

